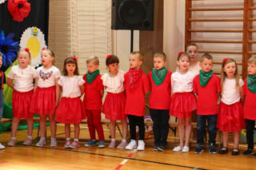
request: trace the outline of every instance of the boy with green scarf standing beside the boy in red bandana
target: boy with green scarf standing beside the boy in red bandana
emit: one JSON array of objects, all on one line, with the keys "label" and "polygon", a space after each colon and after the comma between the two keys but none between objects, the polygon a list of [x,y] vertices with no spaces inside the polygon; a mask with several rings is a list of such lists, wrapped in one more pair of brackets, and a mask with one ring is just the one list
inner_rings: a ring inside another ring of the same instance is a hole
[{"label": "boy with green scarf standing beside the boy in red bandana", "polygon": [[170,75],[166,69],[166,54],[154,54],[154,68],[148,73],[150,80],[150,116],[154,121],[154,151],[164,151],[169,132]]}]

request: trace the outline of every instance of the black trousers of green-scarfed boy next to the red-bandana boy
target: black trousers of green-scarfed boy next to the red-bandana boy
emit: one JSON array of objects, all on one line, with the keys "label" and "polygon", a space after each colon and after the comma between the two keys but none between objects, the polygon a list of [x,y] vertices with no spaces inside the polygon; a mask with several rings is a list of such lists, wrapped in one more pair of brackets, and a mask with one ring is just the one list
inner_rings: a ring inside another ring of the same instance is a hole
[{"label": "black trousers of green-scarfed boy next to the red-bandana boy", "polygon": [[154,145],[166,146],[169,132],[169,110],[150,109],[150,116],[154,122]]}]

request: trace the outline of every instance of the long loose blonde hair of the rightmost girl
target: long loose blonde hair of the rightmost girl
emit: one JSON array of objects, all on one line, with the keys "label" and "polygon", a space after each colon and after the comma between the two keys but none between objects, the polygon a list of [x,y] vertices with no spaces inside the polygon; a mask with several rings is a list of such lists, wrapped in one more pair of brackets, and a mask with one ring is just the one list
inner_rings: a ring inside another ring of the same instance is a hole
[{"label": "long loose blonde hair of the rightmost girl", "polygon": [[221,89],[223,89],[223,83],[225,81],[226,78],[226,73],[224,72],[224,67],[225,65],[234,62],[235,64],[235,72],[234,72],[234,79],[235,79],[235,87],[236,89],[239,89],[239,73],[238,73],[238,65],[237,62],[233,59],[233,58],[227,58],[226,61],[222,62],[222,71],[221,71]]}]

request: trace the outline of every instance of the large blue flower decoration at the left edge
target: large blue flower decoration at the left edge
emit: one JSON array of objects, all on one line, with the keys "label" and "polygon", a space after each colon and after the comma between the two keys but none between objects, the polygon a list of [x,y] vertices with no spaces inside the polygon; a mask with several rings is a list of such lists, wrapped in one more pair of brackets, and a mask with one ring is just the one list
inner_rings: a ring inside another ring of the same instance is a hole
[{"label": "large blue flower decoration at the left edge", "polygon": [[2,65],[6,68],[12,65],[13,61],[15,61],[19,49],[18,42],[14,42],[12,38],[14,38],[13,33],[8,34],[7,37],[5,37],[4,31],[1,31],[0,52],[2,53]]}]

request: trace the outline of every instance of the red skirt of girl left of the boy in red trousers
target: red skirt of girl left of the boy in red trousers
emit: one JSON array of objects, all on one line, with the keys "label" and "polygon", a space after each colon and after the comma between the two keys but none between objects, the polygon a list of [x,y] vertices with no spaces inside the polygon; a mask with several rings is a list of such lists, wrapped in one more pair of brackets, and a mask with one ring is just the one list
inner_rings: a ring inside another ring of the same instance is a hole
[{"label": "red skirt of girl left of the boy in red trousers", "polygon": [[79,124],[86,119],[86,109],[79,97],[62,97],[56,109],[56,121],[63,124]]}]

